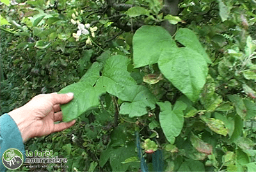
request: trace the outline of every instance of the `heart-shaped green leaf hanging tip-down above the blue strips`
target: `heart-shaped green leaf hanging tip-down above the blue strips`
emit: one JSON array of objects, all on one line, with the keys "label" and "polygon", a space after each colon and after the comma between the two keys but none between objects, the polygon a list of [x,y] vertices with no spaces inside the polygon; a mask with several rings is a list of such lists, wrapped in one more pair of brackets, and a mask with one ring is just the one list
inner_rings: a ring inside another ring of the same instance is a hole
[{"label": "heart-shaped green leaf hanging tip-down above the blue strips", "polygon": [[160,125],[166,139],[173,144],[175,137],[179,136],[183,127],[183,110],[186,109],[187,105],[182,101],[177,101],[172,110],[172,104],[169,101],[165,101],[164,103],[157,102],[157,104],[161,108],[161,112],[159,113]]}]

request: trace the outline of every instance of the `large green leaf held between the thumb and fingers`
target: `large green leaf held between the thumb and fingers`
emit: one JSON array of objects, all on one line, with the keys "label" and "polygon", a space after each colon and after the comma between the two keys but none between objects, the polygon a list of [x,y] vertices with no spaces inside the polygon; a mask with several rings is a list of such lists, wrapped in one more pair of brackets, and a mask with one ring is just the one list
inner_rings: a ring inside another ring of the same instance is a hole
[{"label": "large green leaf held between the thumb and fingers", "polygon": [[[63,121],[70,121],[86,110],[94,108],[99,105],[99,96],[106,92],[104,87],[100,84],[96,84],[99,78],[100,65],[95,62],[90,70],[88,70],[88,80],[81,78],[81,82],[73,83],[68,85],[64,89],[60,90],[60,94],[65,94],[68,92],[74,93],[74,99],[70,103],[61,105],[61,111],[63,112]],[[92,78],[91,78],[92,77]]]}]

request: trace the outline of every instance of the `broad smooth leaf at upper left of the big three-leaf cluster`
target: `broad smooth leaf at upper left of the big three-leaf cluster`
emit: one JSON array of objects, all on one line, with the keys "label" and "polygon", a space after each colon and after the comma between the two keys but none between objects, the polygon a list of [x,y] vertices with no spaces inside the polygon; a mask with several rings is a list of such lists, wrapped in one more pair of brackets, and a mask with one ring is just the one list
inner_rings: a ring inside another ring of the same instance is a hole
[{"label": "broad smooth leaf at upper left of the big three-leaf cluster", "polygon": [[[161,54],[176,47],[172,36],[159,26],[143,25],[132,39],[134,68],[157,63]],[[169,55],[169,54],[168,54]]]}]

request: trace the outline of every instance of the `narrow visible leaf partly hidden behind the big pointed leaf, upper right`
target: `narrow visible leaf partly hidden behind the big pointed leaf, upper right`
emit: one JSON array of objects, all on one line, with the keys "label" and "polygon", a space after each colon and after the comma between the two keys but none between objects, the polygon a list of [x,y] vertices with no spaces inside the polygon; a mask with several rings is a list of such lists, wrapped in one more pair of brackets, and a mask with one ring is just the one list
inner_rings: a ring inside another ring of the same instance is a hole
[{"label": "narrow visible leaf partly hidden behind the big pointed leaf, upper right", "polygon": [[207,63],[212,63],[211,59],[209,59],[209,56],[205,52],[204,47],[202,47],[200,41],[198,40],[195,32],[191,31],[188,28],[180,28],[177,31],[175,39],[185,47],[191,48],[192,50],[198,52],[198,54],[204,57]]}]

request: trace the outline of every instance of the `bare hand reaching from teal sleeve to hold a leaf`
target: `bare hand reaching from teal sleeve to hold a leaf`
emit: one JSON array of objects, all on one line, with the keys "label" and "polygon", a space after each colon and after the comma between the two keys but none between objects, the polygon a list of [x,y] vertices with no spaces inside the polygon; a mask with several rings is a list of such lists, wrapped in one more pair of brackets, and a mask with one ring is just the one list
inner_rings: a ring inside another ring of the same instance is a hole
[{"label": "bare hand reaching from teal sleeve to hold a leaf", "polygon": [[74,125],[76,120],[54,124],[62,120],[60,104],[68,103],[73,97],[74,94],[71,92],[40,94],[24,106],[10,111],[8,114],[18,125],[23,142],[29,138],[45,136]]}]

